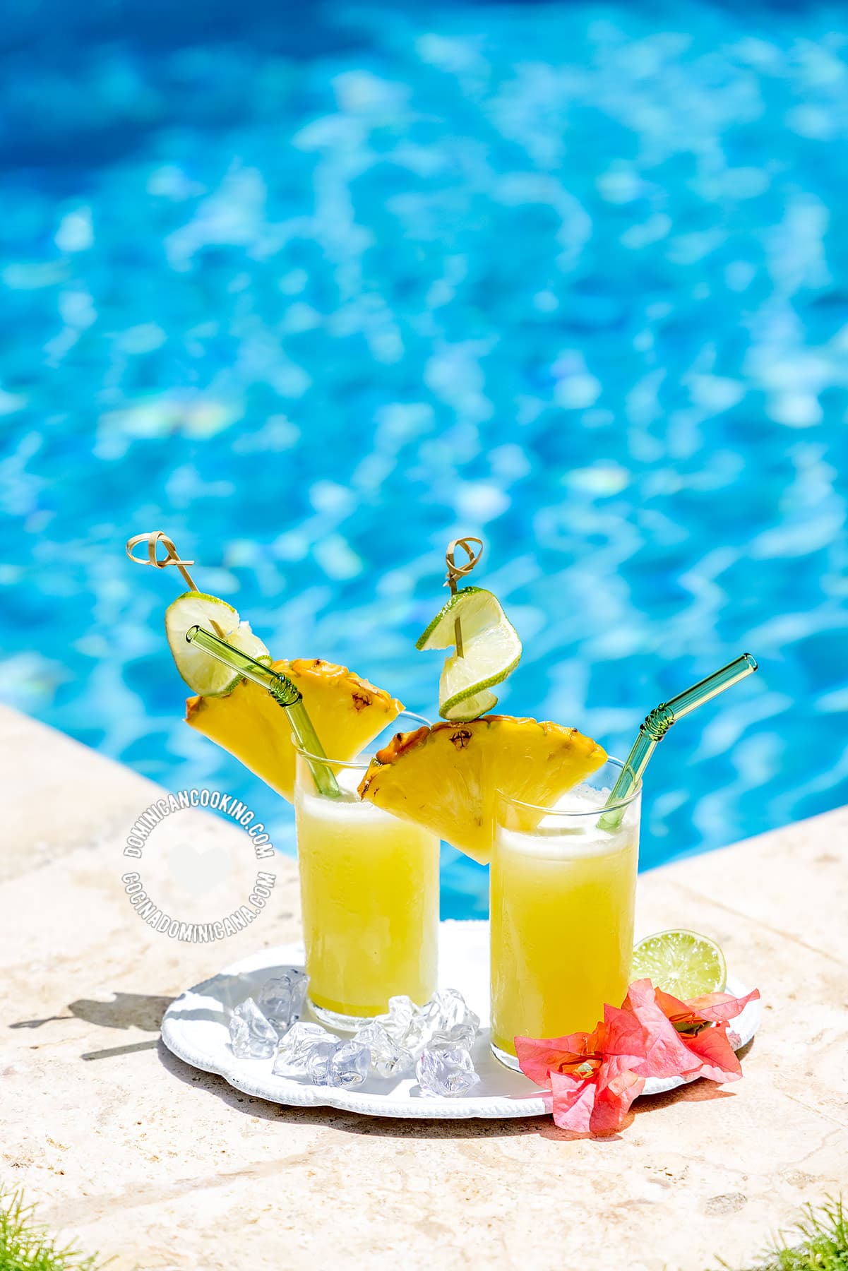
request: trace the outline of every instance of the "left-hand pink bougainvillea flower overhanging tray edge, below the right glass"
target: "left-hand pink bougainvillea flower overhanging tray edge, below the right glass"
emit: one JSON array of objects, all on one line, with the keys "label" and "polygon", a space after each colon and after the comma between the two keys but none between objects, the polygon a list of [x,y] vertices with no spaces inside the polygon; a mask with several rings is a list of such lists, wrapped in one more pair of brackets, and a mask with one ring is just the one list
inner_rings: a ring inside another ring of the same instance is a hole
[{"label": "left-hand pink bougainvillea flower overhanging tray edge, below the right glass", "polygon": [[553,1120],[562,1130],[609,1134],[645,1089],[633,1065],[643,1063],[646,1038],[632,1012],[608,1005],[591,1033],[516,1037],[515,1050],[521,1071],[552,1092]]}]

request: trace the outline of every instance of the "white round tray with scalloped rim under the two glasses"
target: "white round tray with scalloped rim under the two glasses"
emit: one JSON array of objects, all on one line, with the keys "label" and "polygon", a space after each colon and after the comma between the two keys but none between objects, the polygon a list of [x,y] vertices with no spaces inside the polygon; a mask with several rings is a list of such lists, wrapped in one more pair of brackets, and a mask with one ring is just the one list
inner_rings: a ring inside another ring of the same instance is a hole
[{"label": "white round tray with scalloped rim under the two glasses", "polygon": [[[542,1116],[551,1112],[551,1094],[523,1073],[503,1068],[489,1050],[488,1035],[488,923],[441,924],[439,961],[442,988],[456,988],[479,1014],[482,1027],[474,1042],[473,1060],[479,1085],[459,1098],[432,1098],[421,1093],[414,1074],[407,1078],[371,1075],[362,1085],[334,1089],[275,1077],[271,1059],[236,1059],[230,1049],[228,1019],[233,1007],[256,994],[264,980],[290,966],[303,967],[297,944],[262,949],[225,967],[219,975],[187,989],[168,1007],[161,1022],[161,1040],[179,1059],[206,1073],[219,1073],[236,1091],[295,1107],[334,1107],[365,1116],[463,1117]],[[727,991],[741,996],[748,989],[734,976]],[[304,1016],[308,1018],[308,1016]],[[760,1003],[750,1002],[732,1028],[745,1046],[760,1022]],[[350,1036],[350,1035],[347,1035]],[[685,1083],[685,1078],[650,1078],[645,1094],[660,1094]]]}]

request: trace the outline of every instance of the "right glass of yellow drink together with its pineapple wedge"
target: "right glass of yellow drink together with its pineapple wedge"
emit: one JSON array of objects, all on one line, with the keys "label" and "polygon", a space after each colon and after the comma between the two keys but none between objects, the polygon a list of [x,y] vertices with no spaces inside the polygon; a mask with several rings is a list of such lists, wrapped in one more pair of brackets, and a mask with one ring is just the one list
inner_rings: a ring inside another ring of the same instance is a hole
[{"label": "right glass of yellow drink together with its pineapple wedge", "polygon": [[[605,1000],[624,998],[638,802],[620,830],[594,829],[619,770],[576,728],[492,714],[398,733],[359,787],[375,807],[491,860],[496,1054],[514,1065],[516,1033],[594,1027]],[[586,780],[589,803],[554,811]]]}]

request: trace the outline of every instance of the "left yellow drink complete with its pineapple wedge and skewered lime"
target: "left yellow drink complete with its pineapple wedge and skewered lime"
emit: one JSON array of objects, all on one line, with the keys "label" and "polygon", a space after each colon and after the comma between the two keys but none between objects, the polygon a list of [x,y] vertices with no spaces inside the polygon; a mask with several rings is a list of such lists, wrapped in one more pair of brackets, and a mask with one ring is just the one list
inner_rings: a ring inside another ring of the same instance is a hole
[{"label": "left yellow drink complete with its pineapple wedge and skewered lime", "polygon": [[[160,535],[141,538],[153,549]],[[165,629],[177,669],[197,694],[186,703],[186,722],[295,802],[318,1014],[355,1028],[386,1010],[392,996],[427,1002],[436,988],[439,835],[362,802],[357,784],[369,758],[355,758],[376,749],[394,721],[425,732],[427,722],[404,716],[397,699],[345,666],[271,662],[249,623],[216,596],[179,596]]]}]

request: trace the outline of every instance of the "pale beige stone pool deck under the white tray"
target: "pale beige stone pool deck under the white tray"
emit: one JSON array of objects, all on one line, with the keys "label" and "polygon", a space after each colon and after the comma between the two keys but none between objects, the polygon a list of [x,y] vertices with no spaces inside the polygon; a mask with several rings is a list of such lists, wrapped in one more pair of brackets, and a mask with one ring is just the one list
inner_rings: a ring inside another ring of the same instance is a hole
[{"label": "pale beige stone pool deck under the white tray", "polygon": [[[154,934],[121,848],[156,787],[0,708],[0,1178],[139,1267],[706,1271],[848,1191],[848,808],[657,869],[639,929],[715,935],[759,985],[745,1079],[643,1099],[619,1138],[549,1118],[366,1120],[252,1099],[173,1059],[168,1000],[297,938],[295,866],[225,944]],[[203,813],[196,840],[242,833]]]}]

